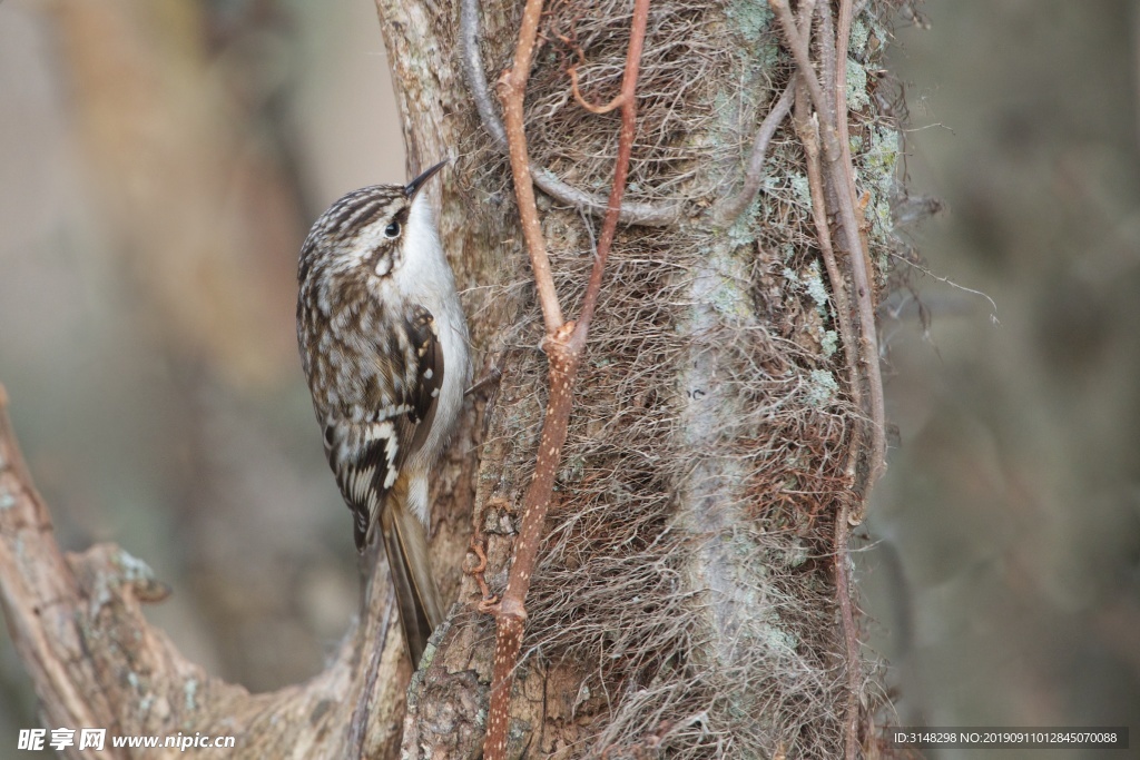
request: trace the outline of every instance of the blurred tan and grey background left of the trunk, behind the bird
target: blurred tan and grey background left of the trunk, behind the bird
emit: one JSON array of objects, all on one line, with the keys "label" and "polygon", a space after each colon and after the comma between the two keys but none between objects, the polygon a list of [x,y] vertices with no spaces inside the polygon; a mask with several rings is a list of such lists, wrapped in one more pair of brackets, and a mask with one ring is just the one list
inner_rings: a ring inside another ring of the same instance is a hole
[{"label": "blurred tan and grey background left of the trunk, behind the bird", "polygon": [[[296,352],[296,258],[402,181],[369,0],[0,2],[0,383],[59,542],[114,541],[148,606],[254,690],[356,612],[349,512]],[[0,631],[0,758],[38,725]]]}]

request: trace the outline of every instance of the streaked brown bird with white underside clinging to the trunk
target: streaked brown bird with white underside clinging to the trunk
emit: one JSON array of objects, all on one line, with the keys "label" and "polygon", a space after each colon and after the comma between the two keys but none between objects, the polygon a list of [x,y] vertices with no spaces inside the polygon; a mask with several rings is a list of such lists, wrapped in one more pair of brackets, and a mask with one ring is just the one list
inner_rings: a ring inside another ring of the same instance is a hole
[{"label": "streaked brown bird with white underside clinging to the trunk", "polygon": [[413,667],[443,618],[429,490],[471,375],[466,319],[423,193],[446,164],[341,197],[298,265],[298,345],[325,456],[359,553],[380,528]]}]

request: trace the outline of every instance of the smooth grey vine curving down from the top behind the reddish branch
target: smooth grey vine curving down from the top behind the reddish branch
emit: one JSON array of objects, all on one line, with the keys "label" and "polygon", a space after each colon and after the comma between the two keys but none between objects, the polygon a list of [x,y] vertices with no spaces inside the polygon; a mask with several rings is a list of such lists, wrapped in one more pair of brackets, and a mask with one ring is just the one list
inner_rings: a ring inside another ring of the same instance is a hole
[{"label": "smooth grey vine curving down from the top behind the reddish branch", "polygon": [[[487,74],[483,72],[479,55],[479,36],[481,24],[479,19],[479,0],[462,0],[459,7],[459,49],[463,60],[463,73],[467,89],[475,101],[479,120],[490,133],[499,150],[506,153],[506,131],[495,111],[490,95]],[[543,166],[530,166],[530,177],[535,185],[555,201],[586,211],[594,216],[604,216],[609,204],[605,199],[567,185]],[[641,224],[643,227],[670,227],[681,220],[684,204],[679,201],[659,203],[638,203],[626,201],[621,204],[622,224]]]}]

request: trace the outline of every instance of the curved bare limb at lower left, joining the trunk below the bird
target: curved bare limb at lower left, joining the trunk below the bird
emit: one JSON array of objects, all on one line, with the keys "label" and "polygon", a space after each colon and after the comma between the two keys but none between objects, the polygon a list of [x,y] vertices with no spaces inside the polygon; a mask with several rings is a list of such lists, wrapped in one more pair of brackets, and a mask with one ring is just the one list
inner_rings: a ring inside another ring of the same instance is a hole
[{"label": "curved bare limb at lower left, joining the trunk below the bird", "polygon": [[[386,636],[383,564],[368,587],[368,610],[328,667],[307,684],[267,694],[211,677],[147,623],[142,604],[166,589],[147,565],[103,544],[65,554],[33,485],[0,386],[0,605],[13,643],[51,728],[106,728],[112,736],[233,736],[237,758],[345,758],[351,717],[368,698],[367,757],[396,757],[407,665],[402,643]],[[377,580],[378,579],[378,580]],[[368,678],[378,662],[394,678]],[[365,694],[374,684],[375,693]],[[177,747],[147,757],[174,757]],[[78,746],[66,757],[85,757]]]}]

